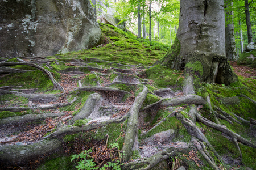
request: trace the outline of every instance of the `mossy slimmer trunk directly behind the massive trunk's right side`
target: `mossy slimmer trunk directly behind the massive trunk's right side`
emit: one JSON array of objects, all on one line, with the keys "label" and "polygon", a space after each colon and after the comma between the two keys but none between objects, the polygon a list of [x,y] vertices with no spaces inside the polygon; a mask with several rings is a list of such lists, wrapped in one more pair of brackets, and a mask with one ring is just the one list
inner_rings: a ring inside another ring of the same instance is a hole
[{"label": "mossy slimmer trunk directly behind the massive trunk's right side", "polygon": [[232,0],[225,0],[225,12],[227,14],[226,18],[226,30],[225,30],[225,37],[226,37],[226,58],[229,61],[233,61],[236,58],[236,41],[234,37],[234,22],[233,22],[233,1]]}]

